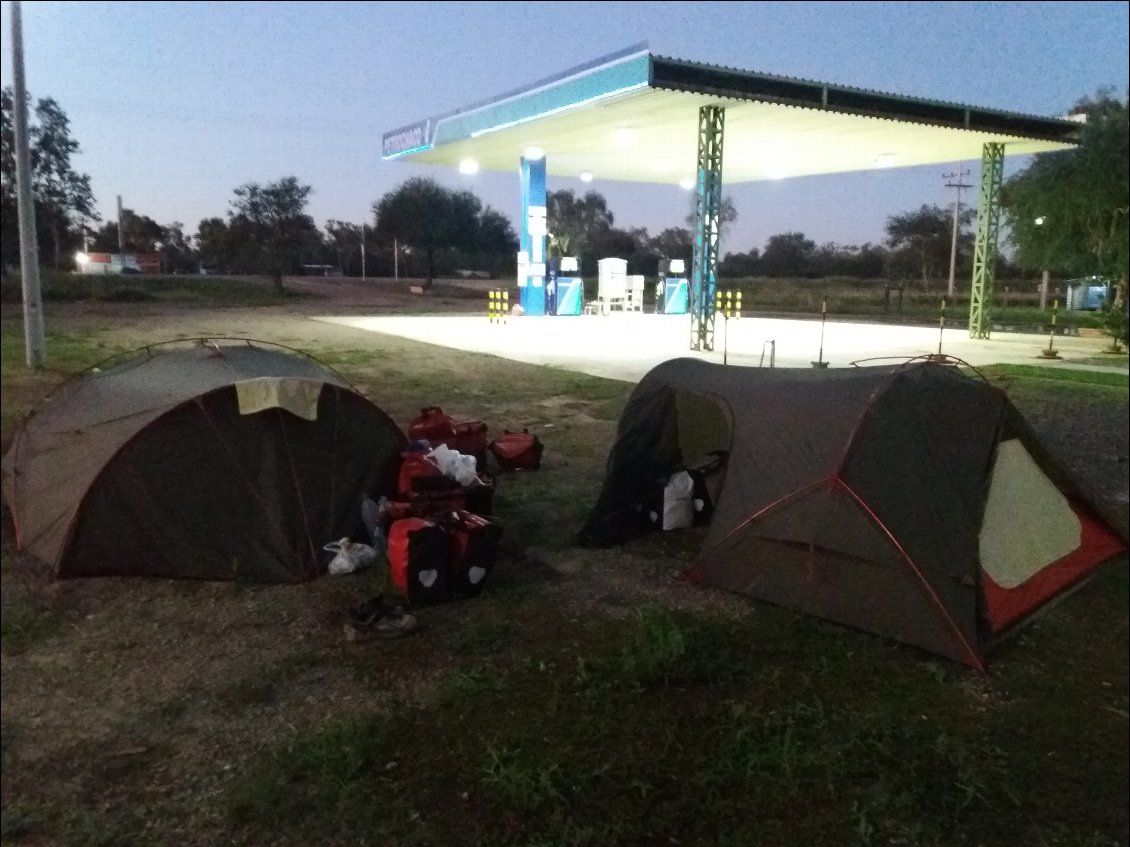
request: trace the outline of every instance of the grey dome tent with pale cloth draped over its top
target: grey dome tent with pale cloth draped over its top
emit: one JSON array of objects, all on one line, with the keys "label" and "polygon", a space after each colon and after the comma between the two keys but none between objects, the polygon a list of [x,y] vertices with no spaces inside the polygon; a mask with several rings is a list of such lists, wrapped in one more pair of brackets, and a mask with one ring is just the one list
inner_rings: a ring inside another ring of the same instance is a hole
[{"label": "grey dome tent with pale cloth draped over its top", "polygon": [[146,348],[64,384],[3,460],[16,540],[59,577],[298,582],[395,490],[407,438],[308,356]]}]

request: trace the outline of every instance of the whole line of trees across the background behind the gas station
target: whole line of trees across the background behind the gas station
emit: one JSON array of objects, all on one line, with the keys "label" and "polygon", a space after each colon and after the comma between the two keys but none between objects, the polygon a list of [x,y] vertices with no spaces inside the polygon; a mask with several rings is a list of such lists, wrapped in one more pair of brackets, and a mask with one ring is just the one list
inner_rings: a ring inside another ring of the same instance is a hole
[{"label": "whole line of trees across the background behind the gas station", "polygon": [[[11,89],[2,91],[0,132],[0,253],[5,268],[19,252],[16,215]],[[1078,148],[1040,154],[1005,184],[1002,207],[1016,264],[1005,273],[1049,270],[1064,276],[1127,276],[1128,129],[1127,101],[1107,90],[1076,104],[1088,120]],[[71,157],[80,151],[59,104],[40,99],[31,126],[33,191],[41,262],[73,268],[79,250],[157,253],[165,272],[201,269],[282,277],[306,267],[332,268],[346,276],[436,276],[472,269],[505,277],[514,272],[518,237],[502,212],[469,191],[414,177],[372,203],[372,220],[329,220],[319,229],[306,212],[312,187],[296,176],[246,183],[233,190],[227,212],[205,218],[192,235],[180,221],[159,224],[131,209],[119,221],[101,222],[90,178]],[[957,274],[970,278],[975,213],[958,221]],[[738,218],[723,199],[723,239]],[[694,212],[686,226],[651,235],[644,227],[619,227],[602,194],[554,191],[547,197],[550,255],[577,256],[581,271],[597,272],[603,256],[626,259],[631,273],[654,274],[660,259],[690,267]],[[924,289],[948,276],[953,210],[937,206],[890,216],[879,244],[817,245],[803,233],[771,236],[764,247],[731,252],[719,263],[723,278],[849,277],[915,279]],[[393,247],[395,246],[395,253]]]}]

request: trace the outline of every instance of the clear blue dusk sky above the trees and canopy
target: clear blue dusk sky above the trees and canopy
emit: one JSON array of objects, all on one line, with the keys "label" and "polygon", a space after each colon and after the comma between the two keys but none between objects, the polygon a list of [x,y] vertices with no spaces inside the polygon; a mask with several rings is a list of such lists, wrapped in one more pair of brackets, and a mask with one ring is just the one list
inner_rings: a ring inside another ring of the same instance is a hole
[{"label": "clear blue dusk sky above the trees and canopy", "polygon": [[[10,6],[2,76],[11,84]],[[515,175],[463,177],[380,158],[381,134],[623,47],[979,106],[1061,115],[1125,96],[1127,2],[34,2],[28,90],[71,119],[104,217],[115,197],[158,222],[225,215],[233,189],[295,175],[310,211],[368,219],[427,174],[516,224]],[[1024,163],[1008,159],[1006,176]],[[977,163],[968,166],[976,175]],[[734,186],[723,252],[799,230],[884,237],[888,216],[947,206],[942,173],[905,168]],[[550,190],[581,183],[550,177]],[[681,226],[677,189],[596,182],[621,226]]]}]

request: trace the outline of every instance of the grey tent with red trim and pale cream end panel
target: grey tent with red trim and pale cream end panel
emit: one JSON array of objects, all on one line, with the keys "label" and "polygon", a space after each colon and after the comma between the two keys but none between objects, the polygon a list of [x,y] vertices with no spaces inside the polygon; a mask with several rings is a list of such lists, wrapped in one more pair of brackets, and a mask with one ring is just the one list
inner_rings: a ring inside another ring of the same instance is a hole
[{"label": "grey tent with red trim and pale cream end panel", "polygon": [[1006,394],[924,361],[653,368],[623,411],[580,540],[628,538],[655,480],[724,452],[687,576],[983,667],[1103,561],[1124,522]]}]

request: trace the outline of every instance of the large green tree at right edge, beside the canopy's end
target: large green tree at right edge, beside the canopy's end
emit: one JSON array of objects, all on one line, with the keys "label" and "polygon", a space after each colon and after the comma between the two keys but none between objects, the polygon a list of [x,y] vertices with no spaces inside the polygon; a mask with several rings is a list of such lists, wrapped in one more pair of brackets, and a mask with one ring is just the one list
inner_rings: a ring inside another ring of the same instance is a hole
[{"label": "large green tree at right edge, beside the canopy's end", "polygon": [[1042,152],[1005,183],[1003,212],[1016,259],[1031,270],[1127,278],[1130,131],[1127,101],[1085,97],[1079,146]]}]

